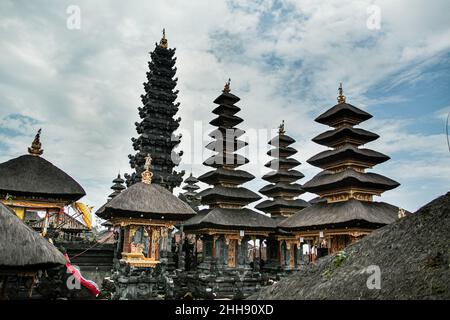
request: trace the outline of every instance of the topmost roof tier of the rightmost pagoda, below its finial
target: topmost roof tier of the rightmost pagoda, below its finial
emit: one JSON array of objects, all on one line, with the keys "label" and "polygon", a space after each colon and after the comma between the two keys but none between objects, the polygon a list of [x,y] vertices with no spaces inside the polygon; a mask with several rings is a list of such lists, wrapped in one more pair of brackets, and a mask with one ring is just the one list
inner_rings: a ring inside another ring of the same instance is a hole
[{"label": "topmost roof tier of the rightmost pagoda, below its finial", "polygon": [[349,103],[339,103],[331,109],[318,116],[315,121],[318,123],[334,126],[344,119],[352,125],[357,125],[372,118],[372,115],[355,107]]}]

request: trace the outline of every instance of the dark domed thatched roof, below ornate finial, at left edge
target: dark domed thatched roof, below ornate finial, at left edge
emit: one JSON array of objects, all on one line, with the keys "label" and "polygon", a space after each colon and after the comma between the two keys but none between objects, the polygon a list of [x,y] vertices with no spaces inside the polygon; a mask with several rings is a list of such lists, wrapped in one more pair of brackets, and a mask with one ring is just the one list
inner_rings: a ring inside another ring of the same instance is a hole
[{"label": "dark domed thatched roof, below ornate finial, at left edge", "polygon": [[39,156],[23,155],[0,164],[0,194],[76,201],[86,195],[72,177]]}]

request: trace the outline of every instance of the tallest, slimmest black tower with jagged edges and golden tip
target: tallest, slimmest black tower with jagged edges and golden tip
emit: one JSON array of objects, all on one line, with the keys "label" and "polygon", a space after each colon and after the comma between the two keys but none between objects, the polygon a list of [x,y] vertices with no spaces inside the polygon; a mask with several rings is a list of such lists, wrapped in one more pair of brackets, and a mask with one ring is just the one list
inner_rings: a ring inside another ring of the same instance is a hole
[{"label": "tallest, slimmest black tower with jagged edges and golden tip", "polygon": [[155,50],[150,53],[145,94],[141,95],[143,107],[139,108],[141,122],[136,122],[138,138],[132,138],[135,155],[129,155],[131,175],[125,175],[127,185],[141,181],[145,156],[152,155],[153,183],[160,184],[170,191],[183,181],[184,171],[176,172],[174,167],[180,162],[182,151],[173,149],[180,143],[181,135],[175,136],[181,118],[174,119],[180,103],[175,103],[178,90],[174,90],[178,78],[175,77],[175,49],[168,47],[165,31]]}]

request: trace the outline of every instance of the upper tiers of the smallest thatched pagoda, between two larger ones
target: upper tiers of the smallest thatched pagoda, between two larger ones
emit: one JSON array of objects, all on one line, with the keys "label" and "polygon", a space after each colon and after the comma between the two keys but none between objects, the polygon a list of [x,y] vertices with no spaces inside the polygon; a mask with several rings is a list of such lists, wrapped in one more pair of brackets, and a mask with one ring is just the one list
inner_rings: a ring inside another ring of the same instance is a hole
[{"label": "upper tiers of the smallest thatched pagoda, between two larger ones", "polygon": [[304,191],[296,181],[304,175],[293,169],[300,165],[299,161],[290,158],[297,153],[297,150],[290,147],[294,142],[295,140],[285,132],[284,121],[278,128],[278,135],[269,141],[269,145],[274,149],[269,150],[267,154],[274,159],[267,162],[265,166],[273,171],[263,176],[263,179],[270,184],[261,188],[259,192],[272,199],[259,203],[255,208],[270,213],[272,218],[283,219],[309,206],[308,202],[297,198]]}]

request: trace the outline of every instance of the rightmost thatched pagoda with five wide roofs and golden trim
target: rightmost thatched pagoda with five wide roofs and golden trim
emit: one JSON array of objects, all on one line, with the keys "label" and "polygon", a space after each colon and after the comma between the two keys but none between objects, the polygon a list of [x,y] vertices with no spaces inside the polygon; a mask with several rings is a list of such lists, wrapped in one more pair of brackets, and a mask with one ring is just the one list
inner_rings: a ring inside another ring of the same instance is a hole
[{"label": "rightmost thatched pagoda with five wide roofs and golden trim", "polygon": [[279,224],[292,232],[299,242],[334,253],[398,218],[398,207],[374,201],[374,196],[398,187],[399,183],[366,172],[389,159],[387,155],[362,147],[379,138],[377,134],[355,127],[370,118],[372,115],[346,102],[341,84],[338,104],[315,119],[332,129],[313,141],[330,149],[307,160],[323,171],[302,188],[322,200],[315,199],[311,206]]}]

